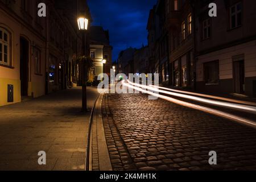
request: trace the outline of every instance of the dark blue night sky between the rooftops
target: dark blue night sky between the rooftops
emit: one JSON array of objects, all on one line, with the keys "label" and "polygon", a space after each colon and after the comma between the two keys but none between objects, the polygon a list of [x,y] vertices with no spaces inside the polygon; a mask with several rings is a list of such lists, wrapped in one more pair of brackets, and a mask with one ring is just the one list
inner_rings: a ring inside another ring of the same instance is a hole
[{"label": "dark blue night sky between the rooftops", "polygon": [[113,61],[128,47],[147,44],[147,18],[156,0],[88,0],[93,25],[109,30]]}]

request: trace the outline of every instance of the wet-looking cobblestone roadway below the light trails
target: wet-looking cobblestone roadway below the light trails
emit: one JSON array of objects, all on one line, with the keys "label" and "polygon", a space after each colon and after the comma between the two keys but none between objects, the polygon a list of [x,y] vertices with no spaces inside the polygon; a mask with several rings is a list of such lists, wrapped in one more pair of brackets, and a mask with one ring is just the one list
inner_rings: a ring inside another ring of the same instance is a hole
[{"label": "wet-looking cobblestone roadway below the light trails", "polygon": [[102,114],[114,170],[256,170],[249,126],[145,94],[106,94]]}]

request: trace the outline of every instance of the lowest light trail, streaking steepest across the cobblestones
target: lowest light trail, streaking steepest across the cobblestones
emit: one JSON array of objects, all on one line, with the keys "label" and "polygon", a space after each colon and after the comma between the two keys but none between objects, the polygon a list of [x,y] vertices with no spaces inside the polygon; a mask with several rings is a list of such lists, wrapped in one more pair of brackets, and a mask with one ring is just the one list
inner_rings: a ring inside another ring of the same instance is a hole
[{"label": "lowest light trail, streaking steepest across the cobblestones", "polygon": [[163,95],[160,95],[160,94],[157,94],[157,93],[154,93],[154,92],[150,92],[148,90],[143,90],[141,88],[138,88],[137,86],[133,86],[133,85],[125,83],[125,80],[122,81],[122,84],[129,87],[129,88],[132,88],[134,90],[138,90],[139,92],[146,93],[146,94],[149,94],[151,96],[158,97],[158,98],[162,98],[163,100],[173,102],[174,104],[177,104],[177,105],[190,107],[190,108],[196,109],[196,110],[201,110],[201,111],[204,111],[204,112],[207,112],[207,113],[210,113],[210,114],[218,115],[218,116],[223,117],[223,118],[232,119],[234,121],[241,122],[241,123],[246,123],[247,125],[251,125],[251,126],[256,127],[256,123],[254,121],[251,121],[250,119],[241,118],[241,117],[238,117],[237,115],[225,113],[223,111],[219,111],[219,110],[216,110],[216,109],[211,109],[209,107],[204,107],[204,106],[191,104],[189,102],[180,101],[180,100],[177,100],[175,98],[171,98],[171,97],[163,96]]}]

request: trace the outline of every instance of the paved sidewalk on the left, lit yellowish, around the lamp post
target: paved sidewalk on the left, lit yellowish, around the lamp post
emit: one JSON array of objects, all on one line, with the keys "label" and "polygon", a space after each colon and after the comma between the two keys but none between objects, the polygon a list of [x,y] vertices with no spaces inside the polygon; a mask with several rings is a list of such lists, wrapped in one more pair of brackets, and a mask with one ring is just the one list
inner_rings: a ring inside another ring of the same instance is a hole
[{"label": "paved sidewalk on the left, lit yellowish, around the lamp post", "polygon": [[[73,88],[0,107],[0,170],[84,170],[90,113],[80,112],[81,94]],[[89,108],[97,96],[88,88]]]}]

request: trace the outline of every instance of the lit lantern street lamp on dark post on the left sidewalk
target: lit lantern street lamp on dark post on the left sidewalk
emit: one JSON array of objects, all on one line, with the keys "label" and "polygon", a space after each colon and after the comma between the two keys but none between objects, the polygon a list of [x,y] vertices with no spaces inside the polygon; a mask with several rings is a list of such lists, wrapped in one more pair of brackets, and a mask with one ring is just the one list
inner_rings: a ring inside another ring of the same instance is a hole
[{"label": "lit lantern street lamp on dark post on the left sidewalk", "polygon": [[[88,23],[89,20],[86,19],[84,16],[81,16],[77,18],[77,24],[79,27],[79,30],[82,31],[82,56],[86,57],[86,51],[85,51],[85,33],[88,29]],[[82,75],[82,111],[87,111],[87,91],[86,91],[86,80],[87,80],[87,68],[85,61],[82,60],[82,63],[80,63],[81,66],[81,75]]]}]

